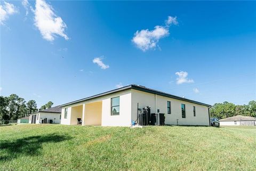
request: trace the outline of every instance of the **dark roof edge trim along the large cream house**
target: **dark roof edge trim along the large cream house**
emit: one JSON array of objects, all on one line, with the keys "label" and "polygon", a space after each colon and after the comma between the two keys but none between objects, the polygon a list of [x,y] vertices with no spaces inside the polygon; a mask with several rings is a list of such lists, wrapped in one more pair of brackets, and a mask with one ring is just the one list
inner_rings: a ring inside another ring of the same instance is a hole
[{"label": "dark roof edge trim along the large cream house", "polygon": [[190,103],[205,105],[206,107],[211,107],[210,104],[205,104],[205,103],[197,102],[197,101],[194,101],[194,100],[185,99],[183,97],[171,95],[171,94],[168,94],[168,93],[157,91],[155,89],[151,89],[151,88],[147,88],[147,87],[140,86],[140,85],[135,85],[135,84],[128,85],[128,86],[125,86],[125,87],[122,87],[122,88],[117,88],[117,89],[114,89],[114,90],[111,90],[111,91],[108,91],[108,92],[105,92],[105,93],[89,96],[89,97],[86,97],[84,99],[76,100],[76,101],[73,101],[73,102],[65,103],[65,104],[60,105],[60,107],[65,107],[66,105],[75,104],[75,103],[83,102],[83,101],[86,101],[86,100],[95,99],[97,97],[122,92],[122,91],[125,91],[127,89],[135,89],[135,90],[146,92],[146,93],[157,94],[157,95],[161,95],[161,96],[165,96],[165,97],[170,97],[172,99],[177,99],[177,100],[186,101],[186,102],[190,102]]}]

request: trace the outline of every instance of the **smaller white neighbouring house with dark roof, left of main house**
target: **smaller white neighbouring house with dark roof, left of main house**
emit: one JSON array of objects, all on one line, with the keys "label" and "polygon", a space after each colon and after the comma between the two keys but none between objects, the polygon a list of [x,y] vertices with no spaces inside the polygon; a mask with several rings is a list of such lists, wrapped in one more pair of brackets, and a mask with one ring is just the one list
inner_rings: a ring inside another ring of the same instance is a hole
[{"label": "smaller white neighbouring house with dark roof, left of main house", "polygon": [[61,108],[56,106],[30,114],[30,124],[60,124]]}]

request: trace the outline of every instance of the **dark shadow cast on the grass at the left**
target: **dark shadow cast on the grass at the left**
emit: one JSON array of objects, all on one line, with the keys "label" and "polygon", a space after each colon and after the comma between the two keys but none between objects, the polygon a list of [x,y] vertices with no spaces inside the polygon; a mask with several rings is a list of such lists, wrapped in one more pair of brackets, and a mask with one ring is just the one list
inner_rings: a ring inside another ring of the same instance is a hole
[{"label": "dark shadow cast on the grass at the left", "polygon": [[2,151],[2,154],[0,153],[0,161],[11,160],[20,155],[38,156],[42,153],[43,143],[58,143],[70,139],[71,137],[68,135],[47,134],[0,141],[0,151]]}]

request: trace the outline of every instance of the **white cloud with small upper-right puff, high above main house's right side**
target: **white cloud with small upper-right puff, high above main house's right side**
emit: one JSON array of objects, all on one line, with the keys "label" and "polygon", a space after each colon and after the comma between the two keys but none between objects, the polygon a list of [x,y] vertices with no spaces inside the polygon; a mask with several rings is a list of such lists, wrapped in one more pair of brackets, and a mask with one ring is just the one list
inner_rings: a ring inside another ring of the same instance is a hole
[{"label": "white cloud with small upper-right puff, high above main house's right side", "polygon": [[177,23],[177,17],[168,17],[166,26],[155,26],[154,30],[137,30],[132,38],[132,42],[143,52],[154,49],[159,39],[169,36],[169,26]]}]

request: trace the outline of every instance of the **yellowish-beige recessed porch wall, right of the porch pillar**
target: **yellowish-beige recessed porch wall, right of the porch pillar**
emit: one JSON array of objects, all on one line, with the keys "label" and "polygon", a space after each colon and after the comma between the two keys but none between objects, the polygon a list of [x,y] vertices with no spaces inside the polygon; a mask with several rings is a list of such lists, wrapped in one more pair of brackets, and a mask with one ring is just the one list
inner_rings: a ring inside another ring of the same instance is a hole
[{"label": "yellowish-beige recessed porch wall, right of the porch pillar", "polygon": [[85,125],[101,125],[102,102],[86,104]]}]

